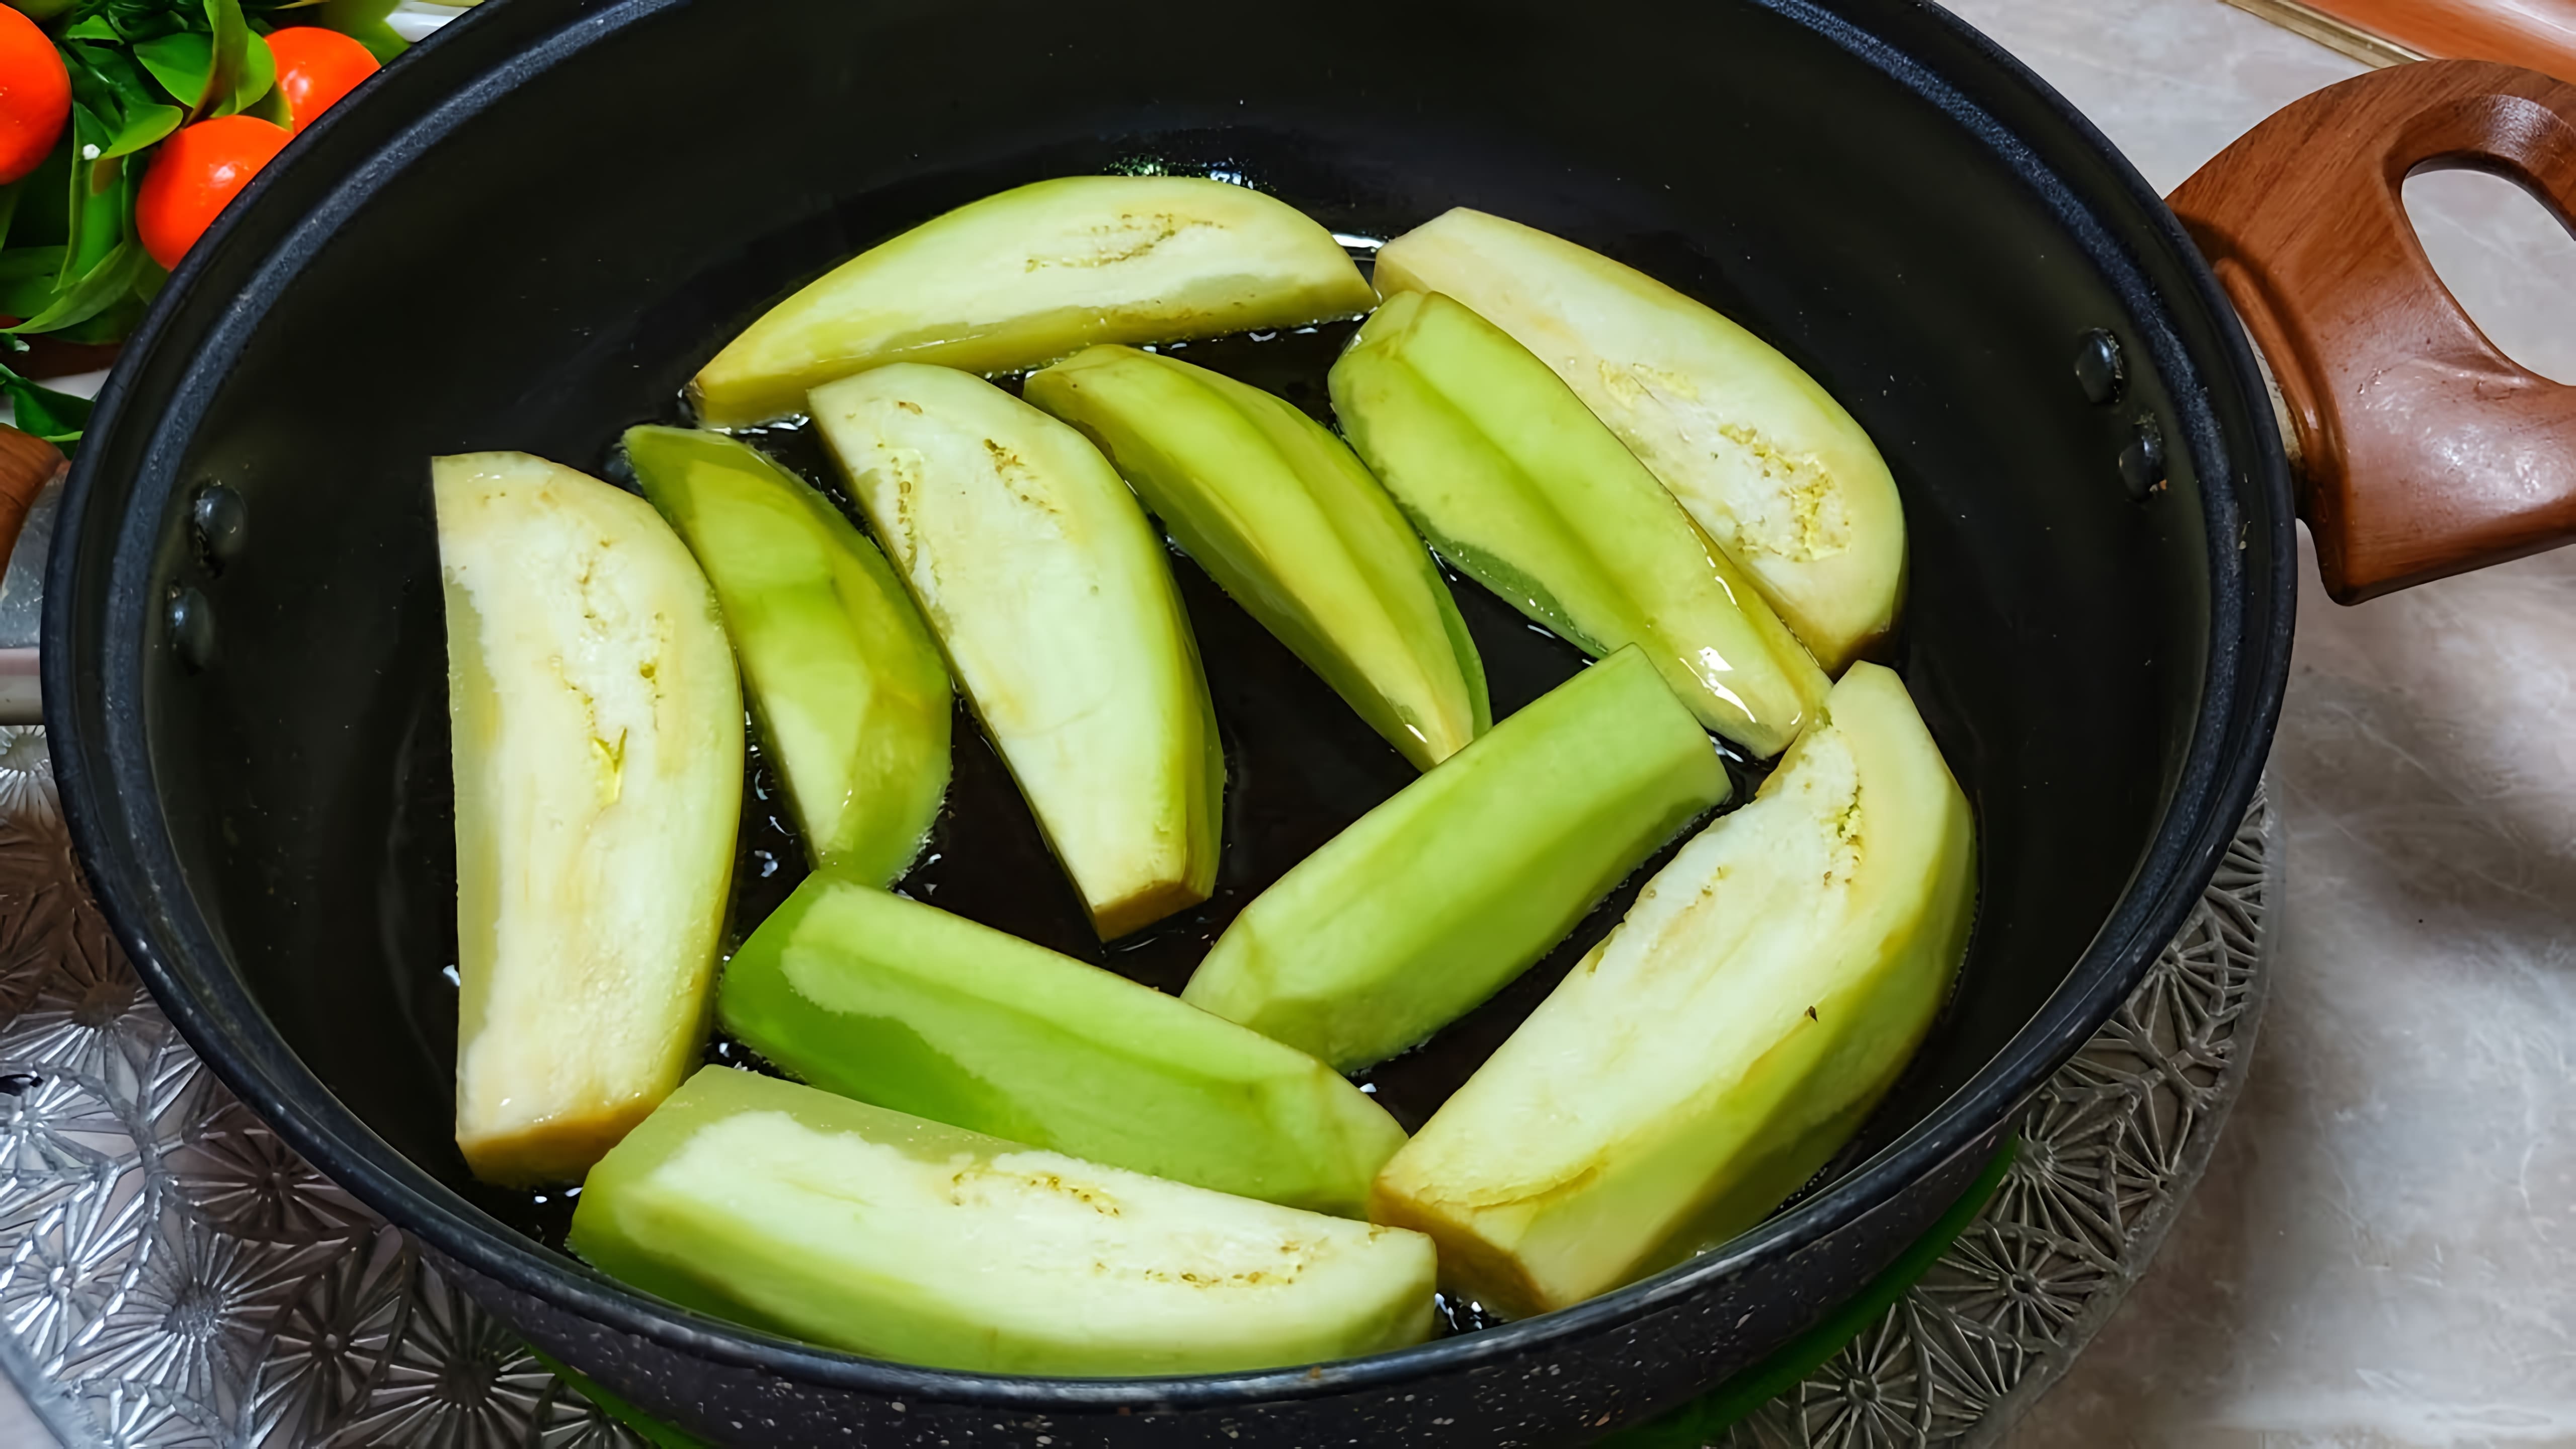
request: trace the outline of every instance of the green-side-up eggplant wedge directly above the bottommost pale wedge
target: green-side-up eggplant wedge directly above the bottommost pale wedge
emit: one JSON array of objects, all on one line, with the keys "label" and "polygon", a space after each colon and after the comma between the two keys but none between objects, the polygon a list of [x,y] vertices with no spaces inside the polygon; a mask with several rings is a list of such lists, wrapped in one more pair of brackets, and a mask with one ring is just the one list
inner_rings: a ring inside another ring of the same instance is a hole
[{"label": "green-side-up eggplant wedge directly above the bottommost pale wedge", "polygon": [[1311,1212],[1363,1217],[1404,1145],[1293,1047],[832,871],[752,931],[716,1013],[840,1096]]}]

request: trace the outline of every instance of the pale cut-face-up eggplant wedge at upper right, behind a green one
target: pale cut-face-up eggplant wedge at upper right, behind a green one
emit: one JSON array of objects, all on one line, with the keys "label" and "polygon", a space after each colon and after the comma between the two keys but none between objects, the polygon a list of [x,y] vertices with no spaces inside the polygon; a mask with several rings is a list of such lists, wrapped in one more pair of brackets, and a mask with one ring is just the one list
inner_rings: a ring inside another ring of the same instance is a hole
[{"label": "pale cut-face-up eggplant wedge at upper right, behind a green one", "polygon": [[1682,500],[1826,673],[1896,624],[1906,513],[1870,436],[1798,364],[1651,276],[1455,209],[1378,253],[1538,353]]}]

